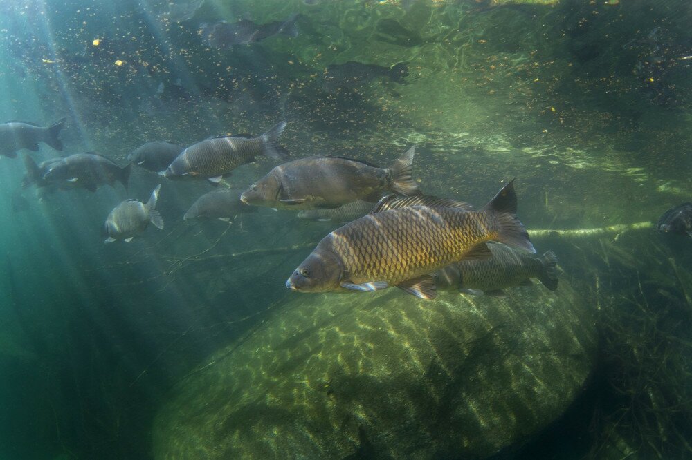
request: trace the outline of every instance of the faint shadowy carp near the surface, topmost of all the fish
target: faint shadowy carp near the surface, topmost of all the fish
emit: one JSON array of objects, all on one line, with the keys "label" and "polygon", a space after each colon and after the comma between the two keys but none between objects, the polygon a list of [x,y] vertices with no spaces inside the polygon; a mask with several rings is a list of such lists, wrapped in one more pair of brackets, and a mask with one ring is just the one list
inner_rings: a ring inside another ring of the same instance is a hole
[{"label": "faint shadowy carp near the surface, topmost of all the fish", "polygon": [[234,45],[248,45],[262,41],[273,35],[286,35],[298,37],[298,26],[295,21],[300,15],[291,15],[285,21],[273,21],[266,24],[257,24],[249,19],[228,23],[219,21],[215,23],[201,23],[199,35],[204,43],[212,48],[220,50],[232,50]]}]

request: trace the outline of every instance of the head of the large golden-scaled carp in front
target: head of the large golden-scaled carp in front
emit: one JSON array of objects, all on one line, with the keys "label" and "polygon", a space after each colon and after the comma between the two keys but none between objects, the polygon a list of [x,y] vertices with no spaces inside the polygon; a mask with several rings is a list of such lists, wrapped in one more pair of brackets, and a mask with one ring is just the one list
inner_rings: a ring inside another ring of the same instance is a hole
[{"label": "head of the large golden-scaled carp in front", "polygon": [[303,260],[286,287],[300,292],[327,292],[338,288],[343,278],[343,266],[334,252],[315,249]]}]

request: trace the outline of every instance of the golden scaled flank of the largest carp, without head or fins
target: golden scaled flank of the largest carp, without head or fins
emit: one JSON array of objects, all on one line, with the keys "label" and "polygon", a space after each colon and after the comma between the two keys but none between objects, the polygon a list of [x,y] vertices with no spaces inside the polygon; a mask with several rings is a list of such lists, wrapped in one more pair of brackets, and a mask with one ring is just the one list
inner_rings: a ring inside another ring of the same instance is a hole
[{"label": "golden scaled flank of the largest carp, without head or fins", "polygon": [[396,285],[448,265],[477,243],[492,240],[493,215],[408,207],[347,224],[332,232],[330,241],[350,282]]}]

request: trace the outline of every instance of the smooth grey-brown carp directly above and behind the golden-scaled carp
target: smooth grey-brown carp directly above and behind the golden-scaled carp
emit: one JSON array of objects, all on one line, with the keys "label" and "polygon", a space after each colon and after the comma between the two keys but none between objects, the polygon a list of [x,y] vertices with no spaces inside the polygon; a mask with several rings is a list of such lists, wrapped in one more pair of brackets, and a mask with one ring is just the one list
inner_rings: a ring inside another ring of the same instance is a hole
[{"label": "smooth grey-brown carp directly above and behind the golden-scaled carp", "polygon": [[390,190],[401,195],[420,191],[412,178],[415,146],[389,168],[345,157],[301,158],[276,166],[244,191],[240,200],[255,206],[329,209]]}]

